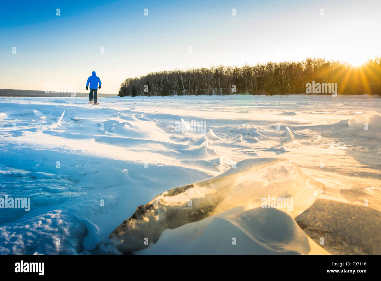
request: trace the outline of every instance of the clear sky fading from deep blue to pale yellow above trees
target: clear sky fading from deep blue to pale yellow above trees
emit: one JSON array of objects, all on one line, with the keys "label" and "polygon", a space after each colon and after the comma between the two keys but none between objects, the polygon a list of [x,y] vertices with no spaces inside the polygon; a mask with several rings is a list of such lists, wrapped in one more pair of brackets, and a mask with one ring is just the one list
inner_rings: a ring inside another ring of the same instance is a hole
[{"label": "clear sky fading from deep blue to pale yellow above trees", "polygon": [[357,64],[381,55],[380,31],[380,0],[2,1],[0,88],[54,81],[86,92],[96,71],[101,92],[117,93],[128,77],[176,68],[306,57]]}]

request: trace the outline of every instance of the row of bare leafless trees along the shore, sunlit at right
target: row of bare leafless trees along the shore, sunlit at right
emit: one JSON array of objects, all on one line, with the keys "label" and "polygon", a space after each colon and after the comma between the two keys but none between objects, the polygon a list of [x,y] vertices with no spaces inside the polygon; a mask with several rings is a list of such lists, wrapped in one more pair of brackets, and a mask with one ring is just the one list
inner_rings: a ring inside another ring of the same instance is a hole
[{"label": "row of bare leafless trees along the shore, sunlit at right", "polygon": [[306,93],[306,83],[338,83],[338,94],[381,94],[381,58],[354,67],[344,61],[306,58],[242,67],[210,66],[151,72],[127,78],[118,95],[275,95]]}]

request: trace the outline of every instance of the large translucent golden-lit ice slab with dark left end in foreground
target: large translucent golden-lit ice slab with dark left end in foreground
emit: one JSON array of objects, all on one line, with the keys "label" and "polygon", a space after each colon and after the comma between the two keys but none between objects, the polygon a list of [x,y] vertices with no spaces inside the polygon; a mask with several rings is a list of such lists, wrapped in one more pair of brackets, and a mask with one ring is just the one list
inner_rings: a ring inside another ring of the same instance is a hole
[{"label": "large translucent golden-lit ice slab with dark left end in foreground", "polygon": [[123,253],[156,243],[165,229],[226,212],[234,207],[278,208],[295,218],[309,208],[323,184],[301,172],[287,158],[240,161],[219,176],[170,189],[141,205],[110,234]]}]

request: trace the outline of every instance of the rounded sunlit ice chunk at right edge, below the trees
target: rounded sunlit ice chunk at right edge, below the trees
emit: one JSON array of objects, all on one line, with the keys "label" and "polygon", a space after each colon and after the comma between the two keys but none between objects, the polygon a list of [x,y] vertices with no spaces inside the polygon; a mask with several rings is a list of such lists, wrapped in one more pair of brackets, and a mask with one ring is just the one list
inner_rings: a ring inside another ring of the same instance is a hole
[{"label": "rounded sunlit ice chunk at right edge, below the trees", "polygon": [[381,137],[381,114],[368,110],[348,121],[349,135],[375,139]]}]

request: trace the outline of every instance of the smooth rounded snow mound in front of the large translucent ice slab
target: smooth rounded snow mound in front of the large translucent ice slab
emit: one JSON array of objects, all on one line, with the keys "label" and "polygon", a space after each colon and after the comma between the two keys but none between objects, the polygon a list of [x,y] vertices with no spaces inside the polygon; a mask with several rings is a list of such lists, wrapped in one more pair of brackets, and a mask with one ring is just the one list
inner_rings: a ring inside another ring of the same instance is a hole
[{"label": "smooth rounded snow mound in front of the large translucent ice slab", "polygon": [[[163,249],[165,254],[310,253],[308,236],[291,216],[275,208],[242,209],[166,229],[156,244],[138,253],[163,254]],[[233,239],[234,246],[227,242]]]}]

